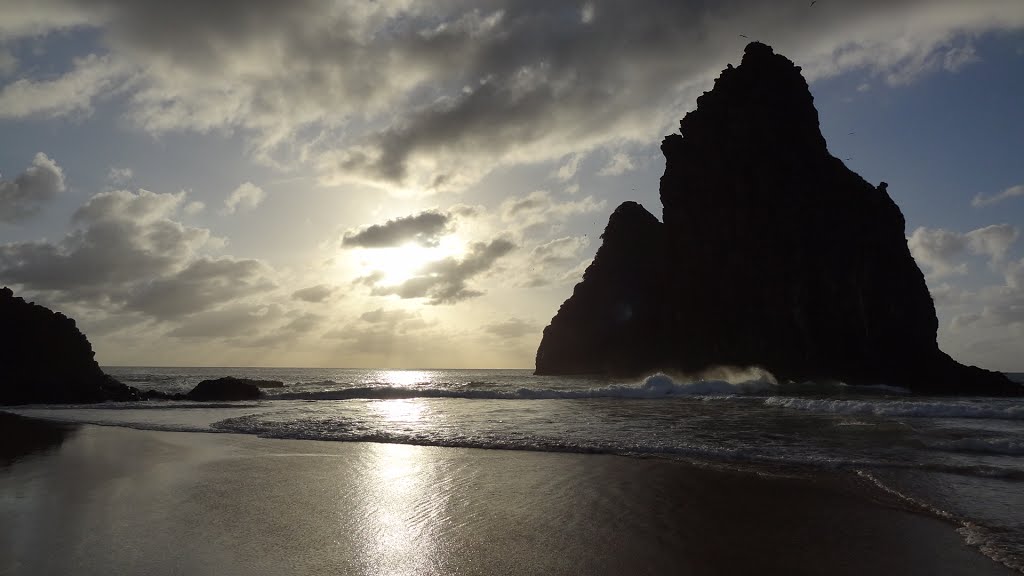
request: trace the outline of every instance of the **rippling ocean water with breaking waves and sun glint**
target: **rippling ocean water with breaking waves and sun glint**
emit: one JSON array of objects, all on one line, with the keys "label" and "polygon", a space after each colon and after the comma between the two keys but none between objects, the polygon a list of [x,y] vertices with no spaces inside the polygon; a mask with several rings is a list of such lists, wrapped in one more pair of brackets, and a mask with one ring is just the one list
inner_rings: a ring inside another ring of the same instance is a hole
[{"label": "rippling ocean water with breaking waves and sun glint", "polygon": [[[225,375],[286,385],[257,402],[7,410],[158,430],[602,453],[767,475],[839,471],[952,523],[967,543],[1024,573],[1021,399],[910,397],[898,385],[780,385],[758,371],[612,379],[527,370],[104,370],[168,393]],[[1024,374],[1010,376],[1024,382]]]}]

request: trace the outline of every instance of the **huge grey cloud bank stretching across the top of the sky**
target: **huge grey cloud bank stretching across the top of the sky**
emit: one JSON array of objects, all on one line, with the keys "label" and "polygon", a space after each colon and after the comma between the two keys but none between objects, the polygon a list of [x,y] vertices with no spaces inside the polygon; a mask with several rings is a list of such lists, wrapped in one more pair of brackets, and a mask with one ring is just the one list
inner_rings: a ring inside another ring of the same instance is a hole
[{"label": "huge grey cloud bank stretching across the top of the sky", "polygon": [[[743,40],[772,42],[811,79],[863,70],[890,83],[956,71],[971,39],[1024,26],[1017,0],[726,4],[496,0],[275,2],[39,0],[5,4],[0,37],[73,27],[109,54],[0,89],[8,117],[87,111],[117,94],[152,132],[240,130],[269,162],[326,182],[465,187],[671,130]],[[298,141],[315,133],[315,141]],[[294,157],[279,158],[289,153]],[[567,170],[566,173],[571,170]]]}]

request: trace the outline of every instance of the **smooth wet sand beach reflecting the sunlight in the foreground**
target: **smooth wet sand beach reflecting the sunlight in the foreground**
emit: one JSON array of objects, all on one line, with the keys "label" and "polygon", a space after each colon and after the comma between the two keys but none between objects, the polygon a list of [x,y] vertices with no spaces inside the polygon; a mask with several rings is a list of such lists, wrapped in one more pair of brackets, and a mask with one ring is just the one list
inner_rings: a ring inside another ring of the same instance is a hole
[{"label": "smooth wet sand beach reflecting the sunlight in the foreground", "polygon": [[92,425],[34,450],[0,465],[3,575],[1014,574],[840,475]]}]

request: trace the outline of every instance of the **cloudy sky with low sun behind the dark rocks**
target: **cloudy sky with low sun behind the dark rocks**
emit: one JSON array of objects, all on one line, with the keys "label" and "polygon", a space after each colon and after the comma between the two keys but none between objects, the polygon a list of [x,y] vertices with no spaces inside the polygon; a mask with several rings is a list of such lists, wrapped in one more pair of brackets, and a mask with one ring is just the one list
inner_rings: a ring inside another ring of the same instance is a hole
[{"label": "cloudy sky with low sun behind the dark rocks", "polygon": [[0,284],[102,365],[530,368],[749,41],[1024,371],[1024,2],[0,0]]}]

